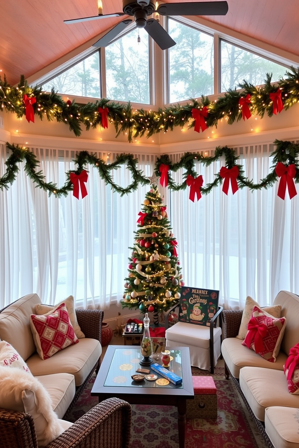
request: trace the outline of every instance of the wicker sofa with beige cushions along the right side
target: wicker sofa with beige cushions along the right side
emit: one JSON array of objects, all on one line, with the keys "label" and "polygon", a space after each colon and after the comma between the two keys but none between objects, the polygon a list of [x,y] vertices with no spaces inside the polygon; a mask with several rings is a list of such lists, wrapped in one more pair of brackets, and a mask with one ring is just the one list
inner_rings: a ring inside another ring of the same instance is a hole
[{"label": "wicker sofa with beige cushions along the right side", "polygon": [[[273,448],[299,447],[299,395],[288,391],[283,366],[299,342],[299,296],[280,291],[273,306],[281,306],[286,327],[276,362],[269,362],[238,339],[243,310],[223,310],[221,353],[225,377],[232,378],[266,444]],[[285,418],[282,418],[282,414]]]}]

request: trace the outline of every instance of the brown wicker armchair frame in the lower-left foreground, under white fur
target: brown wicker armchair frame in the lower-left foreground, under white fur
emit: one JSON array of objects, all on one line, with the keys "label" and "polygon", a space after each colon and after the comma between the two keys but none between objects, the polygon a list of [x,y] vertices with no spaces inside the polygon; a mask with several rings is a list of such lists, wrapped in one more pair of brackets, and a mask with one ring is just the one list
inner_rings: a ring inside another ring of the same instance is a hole
[{"label": "brown wicker armchair frame in the lower-left foreground, under white fur", "polygon": [[[102,401],[45,448],[129,448],[131,405],[118,398]],[[33,418],[0,408],[0,446],[38,448]]]}]

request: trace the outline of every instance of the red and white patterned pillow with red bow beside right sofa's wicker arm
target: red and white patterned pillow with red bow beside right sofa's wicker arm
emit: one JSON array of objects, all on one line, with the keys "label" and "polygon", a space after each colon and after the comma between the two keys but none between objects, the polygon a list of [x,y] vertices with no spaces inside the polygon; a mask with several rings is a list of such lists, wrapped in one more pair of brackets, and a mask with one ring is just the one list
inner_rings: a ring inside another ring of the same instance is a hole
[{"label": "red and white patterned pillow with red bow beside right sofa's wicker arm", "polygon": [[254,306],[247,326],[247,335],[242,342],[264,359],[275,362],[279,353],[286,318],[273,318],[270,314]]}]

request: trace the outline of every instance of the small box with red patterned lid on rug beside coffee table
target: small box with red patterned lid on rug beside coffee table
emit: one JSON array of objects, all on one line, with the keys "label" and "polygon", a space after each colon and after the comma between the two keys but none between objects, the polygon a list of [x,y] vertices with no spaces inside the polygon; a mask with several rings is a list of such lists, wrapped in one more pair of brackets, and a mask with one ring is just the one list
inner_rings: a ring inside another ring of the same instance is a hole
[{"label": "small box with red patterned lid on rug beside coffee table", "polygon": [[217,390],[212,376],[192,376],[194,400],[187,400],[186,418],[217,418]]}]

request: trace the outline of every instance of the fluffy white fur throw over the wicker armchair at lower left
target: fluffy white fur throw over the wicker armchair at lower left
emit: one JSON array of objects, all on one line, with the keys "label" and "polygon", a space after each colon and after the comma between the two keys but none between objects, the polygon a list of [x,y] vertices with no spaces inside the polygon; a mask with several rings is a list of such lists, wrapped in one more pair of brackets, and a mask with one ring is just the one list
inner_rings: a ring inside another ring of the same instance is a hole
[{"label": "fluffy white fur throw over the wicker armchair at lower left", "polygon": [[[23,391],[26,391],[24,400]],[[30,409],[39,446],[47,445],[64,431],[52,410],[48,392],[37,378],[25,370],[0,366],[0,407],[25,412]]]}]

